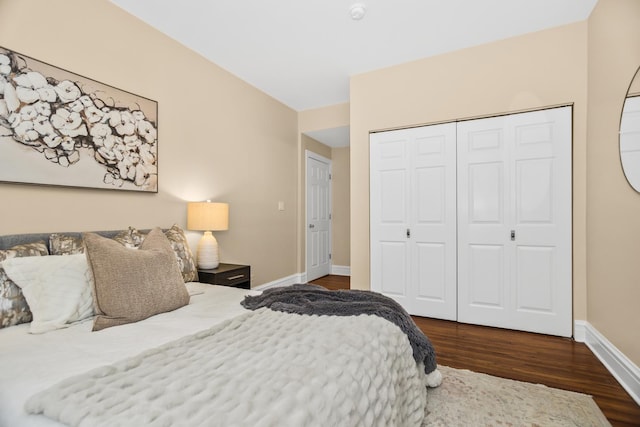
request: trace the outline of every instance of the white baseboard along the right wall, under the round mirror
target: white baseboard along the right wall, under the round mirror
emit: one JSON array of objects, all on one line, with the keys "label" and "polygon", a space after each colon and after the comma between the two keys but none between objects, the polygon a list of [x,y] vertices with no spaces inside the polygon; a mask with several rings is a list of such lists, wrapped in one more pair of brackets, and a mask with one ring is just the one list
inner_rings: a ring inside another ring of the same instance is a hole
[{"label": "white baseboard along the right wall, under the round mirror", "polygon": [[640,405],[640,368],[589,322],[575,321],[574,338],[576,341],[587,344],[611,375]]}]

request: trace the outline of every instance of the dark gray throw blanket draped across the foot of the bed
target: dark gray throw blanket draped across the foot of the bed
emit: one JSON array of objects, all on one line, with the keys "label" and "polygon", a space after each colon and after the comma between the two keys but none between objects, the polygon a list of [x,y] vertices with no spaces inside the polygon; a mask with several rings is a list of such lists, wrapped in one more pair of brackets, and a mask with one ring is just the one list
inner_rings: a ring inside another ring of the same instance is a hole
[{"label": "dark gray throw blanket draped across the foot of the bed", "polygon": [[409,338],[413,358],[424,363],[430,374],[438,367],[431,341],[400,304],[377,292],[360,290],[329,291],[317,285],[270,288],[260,295],[248,295],[240,303],[249,310],[267,307],[274,311],[319,316],[380,316],[397,325]]}]

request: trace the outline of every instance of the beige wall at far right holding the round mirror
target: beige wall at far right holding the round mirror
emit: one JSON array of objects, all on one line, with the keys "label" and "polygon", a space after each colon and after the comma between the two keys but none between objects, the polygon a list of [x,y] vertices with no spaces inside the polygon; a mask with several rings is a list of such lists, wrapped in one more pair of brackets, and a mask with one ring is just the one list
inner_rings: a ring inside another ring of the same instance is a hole
[{"label": "beige wall at far right holding the round mirror", "polygon": [[640,2],[600,0],[589,18],[588,320],[640,366],[640,194],[620,164],[618,130],[640,66]]}]

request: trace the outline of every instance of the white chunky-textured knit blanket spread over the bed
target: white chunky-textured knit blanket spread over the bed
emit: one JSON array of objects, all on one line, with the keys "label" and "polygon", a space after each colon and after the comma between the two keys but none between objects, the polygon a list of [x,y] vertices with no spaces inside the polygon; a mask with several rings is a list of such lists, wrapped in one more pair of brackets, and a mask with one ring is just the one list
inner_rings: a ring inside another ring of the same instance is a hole
[{"label": "white chunky-textured knit blanket spread over the bed", "polygon": [[32,396],[70,426],[420,426],[424,367],[377,316],[243,314]]}]

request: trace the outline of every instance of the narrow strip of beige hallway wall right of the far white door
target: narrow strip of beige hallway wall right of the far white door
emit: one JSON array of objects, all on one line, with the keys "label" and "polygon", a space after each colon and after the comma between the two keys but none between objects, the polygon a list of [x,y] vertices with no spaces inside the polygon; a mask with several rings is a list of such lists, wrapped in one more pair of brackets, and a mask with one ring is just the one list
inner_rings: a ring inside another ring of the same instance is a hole
[{"label": "narrow strip of beige hallway wall right of the far white door", "polygon": [[349,233],[350,198],[350,149],[349,147],[331,149],[333,180],[331,185],[332,254],[333,265],[348,267],[351,265],[351,236]]}]

